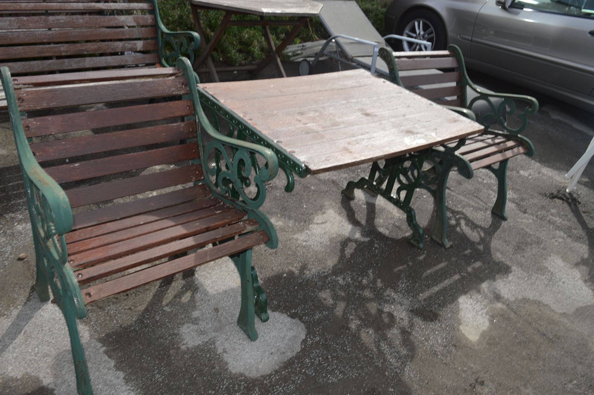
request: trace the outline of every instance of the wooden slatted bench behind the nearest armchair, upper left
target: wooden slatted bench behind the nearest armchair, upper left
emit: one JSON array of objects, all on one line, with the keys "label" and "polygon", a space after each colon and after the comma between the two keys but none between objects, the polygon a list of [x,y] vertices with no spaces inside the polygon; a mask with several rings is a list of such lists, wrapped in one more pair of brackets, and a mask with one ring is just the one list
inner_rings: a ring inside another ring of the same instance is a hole
[{"label": "wooden slatted bench behind the nearest armchair, upper left", "polygon": [[163,26],[156,0],[0,1],[0,66],[15,89],[151,77],[198,48],[194,31]]}]

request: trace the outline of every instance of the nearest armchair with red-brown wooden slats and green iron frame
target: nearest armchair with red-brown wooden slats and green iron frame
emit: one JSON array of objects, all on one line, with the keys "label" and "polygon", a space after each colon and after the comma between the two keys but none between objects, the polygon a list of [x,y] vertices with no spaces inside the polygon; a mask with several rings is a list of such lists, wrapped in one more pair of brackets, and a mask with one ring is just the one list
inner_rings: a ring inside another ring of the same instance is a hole
[{"label": "nearest armchair with red-brown wooden slats and green iron frame", "polygon": [[[268,320],[251,254],[277,245],[258,211],[277,157],[216,131],[188,59],[177,64],[159,78],[17,91],[0,68],[33,227],[36,290],[48,301],[49,286],[64,313],[79,394],[92,389],[76,318],[93,302],[229,256],[241,278],[239,327],[256,340],[254,315]],[[170,100],[146,104],[154,98]],[[104,127],[115,131],[87,130]]]}]

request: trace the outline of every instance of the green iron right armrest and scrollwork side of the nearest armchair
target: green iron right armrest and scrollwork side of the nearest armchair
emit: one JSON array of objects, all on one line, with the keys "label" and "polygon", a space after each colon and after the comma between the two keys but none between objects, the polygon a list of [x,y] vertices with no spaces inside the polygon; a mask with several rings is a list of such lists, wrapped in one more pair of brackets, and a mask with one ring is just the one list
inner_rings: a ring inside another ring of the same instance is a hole
[{"label": "green iron right armrest and scrollwork side of the nearest armchair", "polygon": [[[258,211],[266,199],[265,183],[276,177],[279,171],[276,154],[258,144],[229,137],[213,127],[200,102],[197,76],[192,70],[192,65],[187,58],[182,57],[178,59],[176,66],[181,68],[188,82],[189,95],[185,99],[191,99],[194,105],[194,116],[198,124],[200,163],[206,172],[204,182],[213,195],[246,211],[248,217],[257,220],[261,229],[268,235],[266,245],[276,248],[278,245],[276,230],[270,220]],[[232,118],[226,119],[232,125],[239,127]],[[245,132],[244,128],[240,129],[241,133]],[[204,139],[207,136],[211,139],[208,143]],[[214,165],[209,163],[209,157],[214,157]],[[260,165],[257,159],[263,164]],[[254,188],[255,192],[248,193],[246,189],[249,187]]]}]

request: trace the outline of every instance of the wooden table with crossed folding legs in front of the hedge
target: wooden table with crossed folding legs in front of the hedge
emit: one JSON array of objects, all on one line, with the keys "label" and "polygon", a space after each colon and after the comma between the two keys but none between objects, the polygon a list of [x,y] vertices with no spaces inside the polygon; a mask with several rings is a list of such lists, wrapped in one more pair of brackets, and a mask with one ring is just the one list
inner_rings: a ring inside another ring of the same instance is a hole
[{"label": "wooden table with crossed folding legs in front of the hedge", "polygon": [[[264,30],[264,39],[270,49],[270,54],[264,58],[257,65],[247,65],[239,67],[221,67],[219,71],[239,71],[239,70],[250,70],[254,73],[260,72],[270,62],[274,61],[274,65],[277,71],[282,77],[286,77],[285,69],[280,63],[279,55],[285,50],[286,46],[293,42],[299,30],[307,22],[307,18],[315,17],[319,14],[322,4],[310,1],[310,0],[290,0],[290,1],[279,1],[279,0],[188,0],[192,8],[192,15],[194,16],[194,23],[196,31],[200,34],[201,47],[203,52],[194,62],[194,67],[206,63],[206,69],[198,69],[198,72],[208,72],[213,81],[219,82],[219,76],[217,70],[214,68],[211,53],[214,47],[217,45],[225,29],[228,26],[244,26],[254,27],[261,26]],[[204,35],[204,29],[200,23],[200,15],[198,10],[221,10],[225,11],[225,15],[219,24],[219,27],[211,37],[210,42],[206,40]],[[260,17],[259,20],[247,19],[247,18],[235,18],[232,19],[233,15],[257,15]],[[289,17],[289,19],[283,20],[271,20],[271,17]],[[293,26],[293,29],[289,31],[289,34],[279,44],[274,46],[272,35],[270,34],[269,26]]]}]

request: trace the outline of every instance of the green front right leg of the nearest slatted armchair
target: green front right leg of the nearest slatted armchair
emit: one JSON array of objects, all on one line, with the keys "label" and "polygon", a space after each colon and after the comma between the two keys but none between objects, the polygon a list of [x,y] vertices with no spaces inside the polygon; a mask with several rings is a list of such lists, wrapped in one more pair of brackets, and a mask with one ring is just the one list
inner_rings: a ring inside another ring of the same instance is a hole
[{"label": "green front right leg of the nearest slatted armchair", "polygon": [[237,324],[248,335],[249,340],[254,342],[258,339],[258,333],[254,324],[255,303],[251,261],[251,249],[241,252],[237,258],[233,259],[241,278],[241,309],[239,310]]}]

